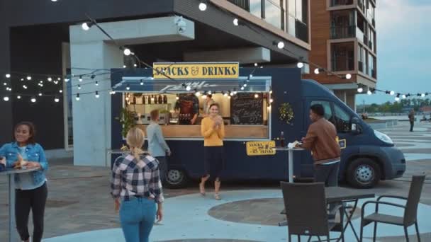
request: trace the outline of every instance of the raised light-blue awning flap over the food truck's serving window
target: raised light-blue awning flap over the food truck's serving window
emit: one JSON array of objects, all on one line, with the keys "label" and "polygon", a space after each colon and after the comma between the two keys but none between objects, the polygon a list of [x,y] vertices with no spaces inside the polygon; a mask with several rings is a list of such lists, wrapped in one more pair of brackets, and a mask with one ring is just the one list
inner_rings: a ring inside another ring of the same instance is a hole
[{"label": "raised light-blue awning flap over the food truck's serving window", "polygon": [[[190,91],[186,90],[190,86]],[[241,86],[245,86],[241,90]],[[123,76],[121,82],[113,86],[116,92],[133,93],[189,93],[197,91],[237,91],[237,92],[267,92],[270,90],[271,76],[253,76],[251,79],[240,77],[238,79],[202,79],[202,80],[169,80],[152,79],[148,76]]]}]

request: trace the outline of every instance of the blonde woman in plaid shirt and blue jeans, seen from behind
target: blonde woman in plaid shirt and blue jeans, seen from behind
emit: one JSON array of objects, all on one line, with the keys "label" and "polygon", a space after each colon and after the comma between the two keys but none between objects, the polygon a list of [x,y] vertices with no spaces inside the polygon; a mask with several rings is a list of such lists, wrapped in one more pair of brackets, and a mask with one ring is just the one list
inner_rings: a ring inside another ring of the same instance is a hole
[{"label": "blonde woman in plaid shirt and blue jeans, seen from behind", "polygon": [[147,242],[155,218],[157,222],[162,220],[159,162],[140,149],[144,139],[141,129],[130,129],[126,137],[130,153],[118,157],[112,168],[111,194],[116,212],[120,210],[121,228],[127,242]]}]

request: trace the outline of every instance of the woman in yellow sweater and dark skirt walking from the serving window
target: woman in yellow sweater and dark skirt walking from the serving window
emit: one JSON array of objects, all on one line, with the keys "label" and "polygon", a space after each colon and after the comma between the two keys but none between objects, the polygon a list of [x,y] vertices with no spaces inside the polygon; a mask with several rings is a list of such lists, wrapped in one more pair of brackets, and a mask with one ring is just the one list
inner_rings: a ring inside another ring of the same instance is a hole
[{"label": "woman in yellow sweater and dark skirt walking from the serving window", "polygon": [[214,180],[214,198],[220,200],[220,173],[223,170],[223,138],[225,126],[223,118],[218,114],[220,106],[212,103],[209,107],[208,117],[201,122],[201,134],[203,136],[203,159],[205,161],[205,173],[202,175],[199,190],[205,195],[205,183],[211,178]]}]

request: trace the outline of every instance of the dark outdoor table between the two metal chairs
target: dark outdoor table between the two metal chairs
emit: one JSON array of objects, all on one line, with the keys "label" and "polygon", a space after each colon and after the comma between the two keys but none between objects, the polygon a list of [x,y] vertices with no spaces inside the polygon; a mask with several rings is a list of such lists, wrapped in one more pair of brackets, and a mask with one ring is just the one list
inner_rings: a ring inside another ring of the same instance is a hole
[{"label": "dark outdoor table between the two metal chairs", "polygon": [[[354,236],[357,238],[357,241],[359,241],[359,237],[356,231],[354,230],[354,226],[352,224],[352,217],[353,217],[354,211],[357,208],[358,200],[363,198],[372,198],[375,196],[376,194],[369,190],[357,190],[357,189],[340,188],[340,187],[325,188],[326,203],[343,204],[343,208],[345,209],[345,214],[347,217],[346,224],[343,225],[342,227],[343,232],[345,232],[347,229],[347,226],[350,225]],[[345,206],[344,205],[345,202],[354,202],[354,204],[353,206]],[[348,212],[347,209],[351,209],[350,212]],[[286,214],[286,209],[283,209],[283,211],[281,211],[281,214]],[[286,226],[286,225],[287,225],[287,221],[283,221],[279,223],[279,226]]]}]

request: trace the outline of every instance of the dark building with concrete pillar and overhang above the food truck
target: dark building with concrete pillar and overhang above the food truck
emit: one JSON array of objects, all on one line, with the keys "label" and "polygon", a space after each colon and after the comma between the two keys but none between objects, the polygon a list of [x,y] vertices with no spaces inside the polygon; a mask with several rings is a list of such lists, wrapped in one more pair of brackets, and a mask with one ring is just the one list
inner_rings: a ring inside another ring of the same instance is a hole
[{"label": "dark building with concrete pillar and overhang above the food truck", "polygon": [[[198,0],[1,0],[0,74],[12,91],[0,91],[9,96],[0,100],[0,144],[11,141],[13,124],[28,120],[45,149],[73,150],[76,165],[105,166],[111,149],[109,70],[133,67],[118,45],[148,64],[235,61],[289,67],[298,59],[308,62],[309,0],[205,2],[201,11]],[[84,31],[86,15],[113,40],[95,26]],[[69,74],[74,77],[63,81]]]}]

